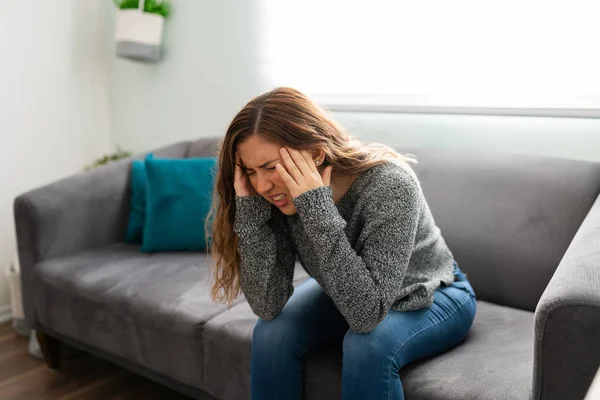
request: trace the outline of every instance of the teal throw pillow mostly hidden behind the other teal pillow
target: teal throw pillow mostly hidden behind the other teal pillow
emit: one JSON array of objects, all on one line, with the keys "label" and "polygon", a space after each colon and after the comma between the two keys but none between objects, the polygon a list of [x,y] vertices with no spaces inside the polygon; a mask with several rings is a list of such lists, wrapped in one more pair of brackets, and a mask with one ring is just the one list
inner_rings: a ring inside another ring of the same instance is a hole
[{"label": "teal throw pillow mostly hidden behind the other teal pillow", "polygon": [[[151,159],[152,154],[146,157]],[[141,244],[144,237],[146,219],[146,160],[133,160],[131,163],[131,198],[129,200],[129,222],[125,242]]]}]

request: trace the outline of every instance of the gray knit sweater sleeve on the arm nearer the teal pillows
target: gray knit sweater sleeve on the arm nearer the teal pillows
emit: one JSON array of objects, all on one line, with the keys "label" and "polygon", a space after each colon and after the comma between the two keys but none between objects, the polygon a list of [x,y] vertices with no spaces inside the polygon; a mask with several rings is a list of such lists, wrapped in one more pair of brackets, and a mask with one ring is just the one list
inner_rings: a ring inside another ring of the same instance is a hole
[{"label": "gray knit sweater sleeve on the arm nearer the teal pillows", "polygon": [[281,312],[294,291],[295,249],[274,218],[271,204],[259,196],[236,196],[234,232],[238,235],[240,281],[252,311],[269,321]]}]

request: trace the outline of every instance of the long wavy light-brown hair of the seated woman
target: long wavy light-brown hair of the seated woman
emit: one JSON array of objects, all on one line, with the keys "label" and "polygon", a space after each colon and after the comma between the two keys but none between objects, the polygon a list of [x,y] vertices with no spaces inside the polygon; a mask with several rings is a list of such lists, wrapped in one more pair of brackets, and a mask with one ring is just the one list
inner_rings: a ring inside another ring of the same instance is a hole
[{"label": "long wavy light-brown hair of the seated woman", "polygon": [[325,152],[324,166],[336,174],[357,176],[387,161],[411,161],[381,144],[363,144],[346,133],[301,92],[281,87],[250,100],[233,118],[218,151],[218,171],[209,220],[212,220],[211,253],[215,263],[211,297],[229,305],[241,292],[238,237],[233,231],[233,187],[237,146],[250,135],[297,150]]}]

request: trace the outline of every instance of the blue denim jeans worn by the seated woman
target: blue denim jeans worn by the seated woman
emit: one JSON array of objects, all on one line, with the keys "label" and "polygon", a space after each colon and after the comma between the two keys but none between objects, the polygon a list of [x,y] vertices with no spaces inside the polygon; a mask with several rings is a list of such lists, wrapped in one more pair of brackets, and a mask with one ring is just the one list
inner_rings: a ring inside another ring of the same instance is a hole
[{"label": "blue denim jeans worn by the seated woman", "polygon": [[254,328],[250,384],[253,400],[302,399],[303,359],[343,340],[342,399],[401,400],[400,369],[462,342],[475,318],[475,292],[458,266],[455,281],[434,293],[426,309],[390,310],[377,327],[359,334],[323,292],[308,279],[272,321]]}]

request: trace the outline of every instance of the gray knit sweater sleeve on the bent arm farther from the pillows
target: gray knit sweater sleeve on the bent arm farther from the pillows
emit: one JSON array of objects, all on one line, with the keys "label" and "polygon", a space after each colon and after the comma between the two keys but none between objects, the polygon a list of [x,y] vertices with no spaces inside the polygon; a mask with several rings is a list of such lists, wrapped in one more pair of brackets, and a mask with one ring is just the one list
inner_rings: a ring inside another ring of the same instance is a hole
[{"label": "gray knit sweater sleeve on the bent arm farther from the pillows", "polygon": [[361,211],[360,255],[344,232],[346,221],[330,187],[303,193],[294,202],[318,255],[323,289],[358,333],[375,329],[401,289],[422,202],[420,187],[410,176],[394,174],[369,190]]}]

